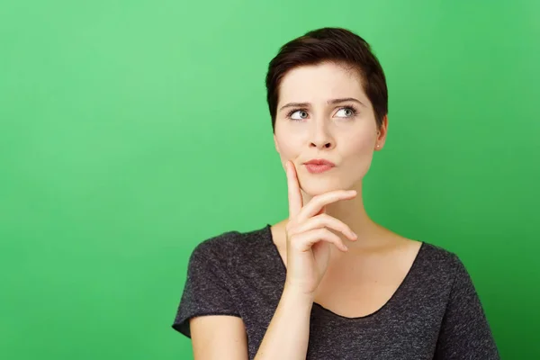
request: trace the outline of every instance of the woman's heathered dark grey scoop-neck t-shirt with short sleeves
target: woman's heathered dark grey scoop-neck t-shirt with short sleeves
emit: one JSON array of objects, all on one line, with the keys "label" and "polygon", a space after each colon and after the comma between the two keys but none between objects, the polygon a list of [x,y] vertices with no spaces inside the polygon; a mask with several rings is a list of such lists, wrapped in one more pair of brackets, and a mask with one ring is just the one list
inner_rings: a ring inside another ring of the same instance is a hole
[{"label": "woman's heathered dark grey scoop-neck t-shirt with short sleeves", "polygon": [[[194,316],[240,317],[253,359],[283,292],[285,271],[270,224],[206,239],[190,257],[173,328],[191,338]],[[345,318],[314,303],[310,328],[310,360],[500,359],[464,264],[427,242],[382,309]]]}]

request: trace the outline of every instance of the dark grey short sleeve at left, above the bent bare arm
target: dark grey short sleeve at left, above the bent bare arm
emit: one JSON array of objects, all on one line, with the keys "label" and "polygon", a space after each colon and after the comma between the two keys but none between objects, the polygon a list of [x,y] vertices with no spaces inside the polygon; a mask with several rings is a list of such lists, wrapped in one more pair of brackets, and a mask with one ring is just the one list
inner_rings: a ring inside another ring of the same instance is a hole
[{"label": "dark grey short sleeve at left, above the bent bare arm", "polygon": [[204,315],[238,316],[230,294],[227,254],[223,239],[205,240],[194,248],[188,262],[184,293],[178,306],[173,329],[191,338],[189,320]]}]

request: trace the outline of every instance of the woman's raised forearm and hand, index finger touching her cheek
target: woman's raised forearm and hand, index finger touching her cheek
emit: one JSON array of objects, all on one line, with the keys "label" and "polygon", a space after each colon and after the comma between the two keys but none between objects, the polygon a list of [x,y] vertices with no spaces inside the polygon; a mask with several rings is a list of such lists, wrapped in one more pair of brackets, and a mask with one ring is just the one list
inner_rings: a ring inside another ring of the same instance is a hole
[{"label": "woman's raised forearm and hand, index finger touching her cheek", "polygon": [[[285,227],[287,275],[284,292],[258,348],[256,360],[304,360],[310,338],[314,293],[329,265],[329,251],[348,248],[334,229],[351,241],[357,236],[344,222],[326,214],[325,206],[356,197],[356,191],[321,193],[303,204],[293,161],[285,164],[289,193],[289,220]],[[313,247],[318,244],[317,247]],[[325,260],[326,259],[326,260]]]}]

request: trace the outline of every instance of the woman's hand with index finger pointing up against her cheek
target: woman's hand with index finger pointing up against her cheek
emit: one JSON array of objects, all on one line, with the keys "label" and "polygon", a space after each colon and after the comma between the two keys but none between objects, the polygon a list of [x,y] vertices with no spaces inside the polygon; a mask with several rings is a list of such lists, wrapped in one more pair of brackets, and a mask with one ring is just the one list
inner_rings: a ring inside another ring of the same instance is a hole
[{"label": "woman's hand with index finger pointing up against her cheek", "polygon": [[[316,195],[303,206],[302,193],[293,162],[285,164],[289,192],[289,221],[285,228],[287,238],[287,275],[285,287],[294,292],[313,296],[326,273],[332,244],[341,251],[347,246],[337,234],[342,232],[352,241],[356,234],[342,221],[324,213],[331,202],[349,200],[356,191],[337,190]],[[327,229],[329,228],[329,229]]]}]

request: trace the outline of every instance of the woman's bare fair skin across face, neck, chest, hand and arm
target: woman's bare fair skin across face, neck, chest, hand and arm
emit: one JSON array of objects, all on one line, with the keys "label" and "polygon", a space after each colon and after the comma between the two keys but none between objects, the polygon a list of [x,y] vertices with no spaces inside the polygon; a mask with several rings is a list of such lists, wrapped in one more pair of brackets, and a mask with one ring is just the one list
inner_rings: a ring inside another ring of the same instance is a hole
[{"label": "woman's bare fair skin across face, neck, chest, hand and arm", "polygon": [[[360,103],[328,103],[348,97]],[[380,309],[409,272],[420,245],[376,224],[365,212],[362,180],[374,151],[383,148],[388,118],[376,126],[356,73],[332,63],[294,68],[284,76],[279,98],[278,109],[292,102],[309,105],[293,113],[299,121],[286,117],[290,108],[278,111],[275,121],[290,216],[271,231],[287,281],[257,360],[305,359],[314,302],[345,317]],[[347,105],[355,105],[358,113],[352,115]],[[310,174],[302,163],[312,158],[336,166]],[[240,318],[202,316],[190,322],[195,359],[247,359]]]}]

